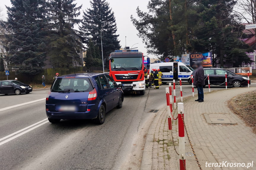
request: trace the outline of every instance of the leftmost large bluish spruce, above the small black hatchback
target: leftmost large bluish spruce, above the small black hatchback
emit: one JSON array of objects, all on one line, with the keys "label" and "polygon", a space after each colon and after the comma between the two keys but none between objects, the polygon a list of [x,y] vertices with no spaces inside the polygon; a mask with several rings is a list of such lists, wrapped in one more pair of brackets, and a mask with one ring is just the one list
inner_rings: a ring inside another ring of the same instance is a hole
[{"label": "leftmost large bluish spruce, above the small black hatchback", "polygon": [[7,7],[7,22],[4,27],[11,30],[6,35],[7,59],[19,72],[29,75],[38,74],[46,58],[43,30],[47,20],[44,0],[11,0]]}]

